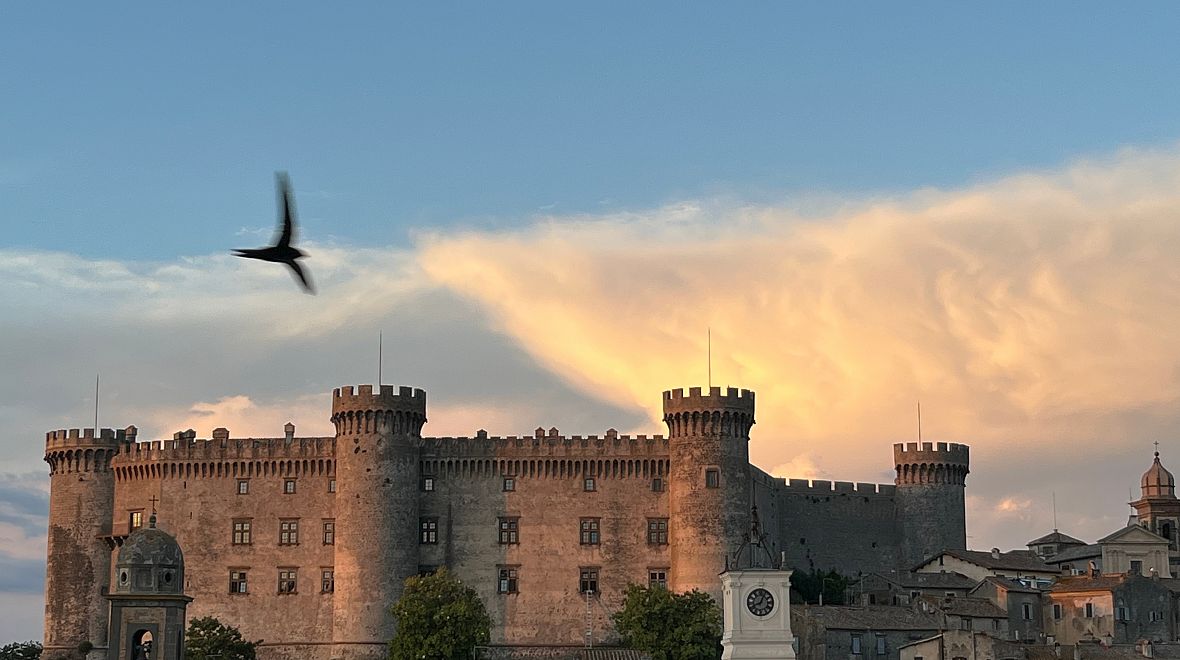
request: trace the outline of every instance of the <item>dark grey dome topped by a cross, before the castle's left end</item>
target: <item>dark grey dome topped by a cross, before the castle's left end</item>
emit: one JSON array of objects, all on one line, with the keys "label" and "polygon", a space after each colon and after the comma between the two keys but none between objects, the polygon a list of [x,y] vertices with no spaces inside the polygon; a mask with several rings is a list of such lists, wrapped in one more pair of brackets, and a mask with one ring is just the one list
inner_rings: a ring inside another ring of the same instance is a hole
[{"label": "dark grey dome topped by a cross, before the castle's left end", "polygon": [[156,528],[155,512],[123,543],[114,575],[116,594],[184,593],[184,555],[172,535]]}]

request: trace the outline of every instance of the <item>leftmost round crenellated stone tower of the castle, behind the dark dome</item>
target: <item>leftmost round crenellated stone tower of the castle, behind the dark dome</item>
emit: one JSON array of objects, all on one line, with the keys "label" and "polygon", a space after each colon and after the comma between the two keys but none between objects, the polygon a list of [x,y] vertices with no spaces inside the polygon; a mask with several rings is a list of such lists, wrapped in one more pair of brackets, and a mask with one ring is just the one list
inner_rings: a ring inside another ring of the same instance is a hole
[{"label": "leftmost round crenellated stone tower of the castle, behind the dark dome", "polygon": [[90,642],[88,659],[106,658],[114,473],[111,457],[123,431],[71,429],[45,434],[50,464],[50,534],[45,570],[46,658]]}]

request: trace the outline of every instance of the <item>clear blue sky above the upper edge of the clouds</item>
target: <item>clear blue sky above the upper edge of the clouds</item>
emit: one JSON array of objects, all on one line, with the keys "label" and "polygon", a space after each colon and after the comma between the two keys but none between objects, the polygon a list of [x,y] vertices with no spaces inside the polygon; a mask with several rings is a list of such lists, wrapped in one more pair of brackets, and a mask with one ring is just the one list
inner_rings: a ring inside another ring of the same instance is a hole
[{"label": "clear blue sky above the upper edge of the clouds", "polygon": [[1156,4],[5,7],[6,243],[242,243],[946,187],[1180,136]]}]

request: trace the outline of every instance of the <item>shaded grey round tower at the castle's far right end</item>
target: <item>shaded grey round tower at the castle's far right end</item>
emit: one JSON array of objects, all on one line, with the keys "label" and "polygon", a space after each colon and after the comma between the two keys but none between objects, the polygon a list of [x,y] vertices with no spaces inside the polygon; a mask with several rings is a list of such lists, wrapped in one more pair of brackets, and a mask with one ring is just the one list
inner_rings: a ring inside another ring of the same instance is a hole
[{"label": "shaded grey round tower at the castle's far right end", "polygon": [[948,443],[893,445],[899,568],[911,569],[942,550],[966,549],[965,484],[970,447]]}]

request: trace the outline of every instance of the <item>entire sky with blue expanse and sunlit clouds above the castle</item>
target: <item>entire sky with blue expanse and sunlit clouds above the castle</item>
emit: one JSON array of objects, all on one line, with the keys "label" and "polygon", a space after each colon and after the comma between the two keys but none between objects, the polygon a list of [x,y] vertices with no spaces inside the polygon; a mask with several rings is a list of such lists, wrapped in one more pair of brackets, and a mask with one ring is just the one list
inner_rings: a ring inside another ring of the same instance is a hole
[{"label": "entire sky with blue expanse and sunlit clouds above the castle", "polygon": [[[972,447],[974,548],[1126,524],[1180,466],[1180,7],[0,9],[0,641],[41,635],[44,433],[663,432],[758,392],[753,463]],[[320,293],[264,244],[286,170]]]}]

